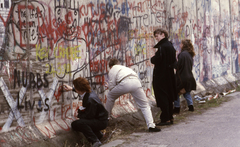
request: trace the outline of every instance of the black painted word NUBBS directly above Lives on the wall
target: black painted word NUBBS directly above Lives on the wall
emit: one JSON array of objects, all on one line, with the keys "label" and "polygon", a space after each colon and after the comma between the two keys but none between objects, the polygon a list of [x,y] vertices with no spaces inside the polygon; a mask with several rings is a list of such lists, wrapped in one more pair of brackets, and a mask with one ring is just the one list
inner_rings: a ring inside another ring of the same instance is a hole
[{"label": "black painted word NUBBS directly above Lives on the wall", "polygon": [[[26,73],[26,76],[25,76]],[[38,89],[42,87],[48,87],[48,80],[47,80],[47,74],[45,73],[43,75],[43,78],[41,77],[40,73],[32,73],[32,72],[24,72],[22,71],[22,80],[20,71],[17,69],[14,69],[14,88],[16,88],[16,84],[18,84],[18,87],[20,87],[20,84],[22,83],[22,86],[26,87],[28,84],[30,88],[37,87]]]}]

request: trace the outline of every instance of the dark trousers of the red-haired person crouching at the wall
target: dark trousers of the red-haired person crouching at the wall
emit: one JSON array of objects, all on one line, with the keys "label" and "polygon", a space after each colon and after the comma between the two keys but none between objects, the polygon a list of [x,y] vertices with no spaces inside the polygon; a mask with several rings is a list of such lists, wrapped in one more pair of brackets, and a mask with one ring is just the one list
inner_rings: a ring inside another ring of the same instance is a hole
[{"label": "dark trousers of the red-haired person crouching at the wall", "polygon": [[98,141],[101,137],[101,130],[108,125],[108,120],[100,121],[97,119],[79,119],[72,122],[71,126],[74,131],[82,132],[87,140],[91,143]]}]

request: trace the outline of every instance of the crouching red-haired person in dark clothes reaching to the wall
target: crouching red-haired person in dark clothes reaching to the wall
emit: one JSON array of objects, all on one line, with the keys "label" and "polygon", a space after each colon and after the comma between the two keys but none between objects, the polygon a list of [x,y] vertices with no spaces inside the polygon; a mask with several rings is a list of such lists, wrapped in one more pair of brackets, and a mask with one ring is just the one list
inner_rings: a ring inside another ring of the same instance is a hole
[{"label": "crouching red-haired person in dark clothes reaching to the wall", "polygon": [[64,84],[66,91],[77,92],[82,99],[82,106],[78,109],[77,120],[71,123],[74,131],[82,132],[93,147],[99,147],[103,137],[101,130],[108,125],[108,112],[97,94],[91,91],[89,82],[82,77],[73,80],[74,87]]}]

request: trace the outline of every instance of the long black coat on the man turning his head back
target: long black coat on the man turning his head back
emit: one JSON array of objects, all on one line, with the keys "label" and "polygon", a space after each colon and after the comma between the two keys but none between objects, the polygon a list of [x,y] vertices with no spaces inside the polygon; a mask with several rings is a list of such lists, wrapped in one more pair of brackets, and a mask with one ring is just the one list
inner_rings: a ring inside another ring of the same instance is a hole
[{"label": "long black coat on the man turning his head back", "polygon": [[159,99],[164,96],[167,96],[170,101],[177,99],[176,79],[174,74],[176,50],[167,38],[159,41],[154,48],[158,48],[158,50],[151,58],[151,63],[154,64],[153,85],[156,85],[154,86],[154,91],[158,92],[159,95],[159,97],[155,95],[157,105],[159,106]]}]

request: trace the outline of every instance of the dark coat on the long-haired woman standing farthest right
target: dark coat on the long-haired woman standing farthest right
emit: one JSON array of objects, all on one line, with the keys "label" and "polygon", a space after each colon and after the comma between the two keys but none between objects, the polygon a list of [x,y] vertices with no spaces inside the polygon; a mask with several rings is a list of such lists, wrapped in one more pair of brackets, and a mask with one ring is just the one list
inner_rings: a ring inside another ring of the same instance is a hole
[{"label": "dark coat on the long-haired woman standing farthest right", "polygon": [[178,55],[176,79],[177,79],[177,92],[185,88],[187,92],[196,90],[196,81],[192,73],[193,57],[188,51],[182,51]]}]

